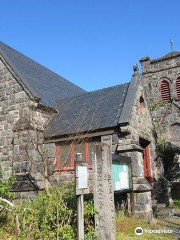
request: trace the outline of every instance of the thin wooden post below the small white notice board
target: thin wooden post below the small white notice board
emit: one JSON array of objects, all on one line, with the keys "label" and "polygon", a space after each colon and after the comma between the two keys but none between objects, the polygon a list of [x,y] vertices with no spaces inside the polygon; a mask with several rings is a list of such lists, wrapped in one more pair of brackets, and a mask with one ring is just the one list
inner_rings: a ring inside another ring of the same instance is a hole
[{"label": "thin wooden post below the small white notice board", "polygon": [[83,195],[77,196],[78,240],[84,240],[84,199]]}]

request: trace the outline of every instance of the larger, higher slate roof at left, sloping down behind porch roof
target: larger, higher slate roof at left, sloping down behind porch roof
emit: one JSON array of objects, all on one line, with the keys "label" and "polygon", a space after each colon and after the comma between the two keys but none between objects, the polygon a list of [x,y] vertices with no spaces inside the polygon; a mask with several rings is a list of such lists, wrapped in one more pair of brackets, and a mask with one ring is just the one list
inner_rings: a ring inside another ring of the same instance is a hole
[{"label": "larger, higher slate roof at left, sloping down behind porch roof", "polygon": [[54,107],[56,99],[76,96],[85,91],[39,63],[0,41],[0,54],[40,103]]}]

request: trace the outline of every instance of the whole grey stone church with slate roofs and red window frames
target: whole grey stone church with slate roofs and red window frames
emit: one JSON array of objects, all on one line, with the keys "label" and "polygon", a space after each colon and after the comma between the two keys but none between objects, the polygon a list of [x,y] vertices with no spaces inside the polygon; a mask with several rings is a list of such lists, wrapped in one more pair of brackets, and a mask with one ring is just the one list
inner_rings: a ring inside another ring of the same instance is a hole
[{"label": "whole grey stone church with slate roofs and red window frames", "polygon": [[[4,176],[16,176],[12,190],[27,197],[46,184],[74,180],[75,155],[82,152],[94,193],[93,154],[108,139],[108,164],[117,179],[105,175],[113,198],[125,199],[136,216],[151,219],[157,182],[164,176],[156,121],[163,127],[160,136],[178,153],[179,59],[179,52],[143,58],[142,74],[134,65],[129,83],[86,92],[0,42],[0,166]],[[98,176],[106,170],[100,162]],[[116,176],[119,165],[123,170]],[[127,181],[119,176],[128,176]]]}]

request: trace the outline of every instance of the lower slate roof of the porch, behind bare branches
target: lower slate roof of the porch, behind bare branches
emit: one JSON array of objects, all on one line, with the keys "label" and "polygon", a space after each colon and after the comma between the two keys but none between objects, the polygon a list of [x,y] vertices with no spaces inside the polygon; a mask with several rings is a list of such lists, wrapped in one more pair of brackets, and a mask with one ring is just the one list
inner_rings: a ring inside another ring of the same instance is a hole
[{"label": "lower slate roof of the porch, behind bare branches", "polygon": [[118,125],[129,83],[59,101],[58,114],[48,122],[46,138]]}]

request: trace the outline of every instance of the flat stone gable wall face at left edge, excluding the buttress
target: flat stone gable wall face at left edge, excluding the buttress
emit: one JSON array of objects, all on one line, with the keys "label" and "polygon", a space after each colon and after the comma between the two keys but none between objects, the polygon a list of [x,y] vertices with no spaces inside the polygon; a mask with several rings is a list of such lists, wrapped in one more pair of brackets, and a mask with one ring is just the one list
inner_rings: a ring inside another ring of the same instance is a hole
[{"label": "flat stone gable wall face at left edge, excluding the buttress", "polygon": [[[13,128],[30,103],[26,92],[0,61],[0,159],[6,176],[13,172],[12,161],[17,161],[14,159],[14,150],[17,152],[17,147],[13,149]],[[19,161],[18,154],[17,158]]]}]

